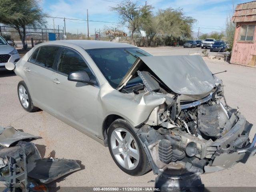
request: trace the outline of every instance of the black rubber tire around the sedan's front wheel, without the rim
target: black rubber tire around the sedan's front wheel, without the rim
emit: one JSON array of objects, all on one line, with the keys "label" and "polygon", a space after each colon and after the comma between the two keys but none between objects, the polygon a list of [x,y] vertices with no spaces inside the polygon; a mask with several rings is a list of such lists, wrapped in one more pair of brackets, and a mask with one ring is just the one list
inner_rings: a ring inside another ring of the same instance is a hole
[{"label": "black rubber tire around the sedan's front wheel, without the rim", "polygon": [[[140,154],[140,158],[139,158],[139,162],[138,165],[132,169],[132,170],[128,170],[126,168],[124,168],[122,165],[120,165],[118,163],[118,161],[116,160],[112,149],[111,149],[111,134],[112,132],[116,129],[116,128],[123,128],[125,130],[127,130],[128,132],[130,132],[130,134],[132,134],[132,136],[134,137],[136,144],[138,146],[138,150],[139,150],[139,154]],[[144,148],[140,142],[140,139],[138,138],[137,134],[134,132],[132,125],[127,122],[124,119],[117,119],[114,122],[112,122],[112,124],[109,126],[108,128],[108,149],[110,151],[110,154],[114,160],[114,162],[116,163],[116,165],[125,173],[132,175],[132,176],[141,176],[146,174],[147,172],[149,172],[151,170],[151,165],[150,162],[148,160],[148,157],[144,151]]]}]

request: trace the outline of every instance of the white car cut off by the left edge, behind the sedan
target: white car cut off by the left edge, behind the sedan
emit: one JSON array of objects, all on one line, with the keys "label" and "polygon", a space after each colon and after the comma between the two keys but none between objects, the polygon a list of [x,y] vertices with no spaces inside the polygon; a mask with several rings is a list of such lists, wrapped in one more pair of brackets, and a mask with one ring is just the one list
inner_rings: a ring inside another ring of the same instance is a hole
[{"label": "white car cut off by the left edge, behind the sedan", "polygon": [[0,70],[5,69],[5,64],[7,62],[15,64],[20,60],[18,51],[13,46],[10,46],[12,43],[12,41],[6,42],[6,40],[0,36]]}]

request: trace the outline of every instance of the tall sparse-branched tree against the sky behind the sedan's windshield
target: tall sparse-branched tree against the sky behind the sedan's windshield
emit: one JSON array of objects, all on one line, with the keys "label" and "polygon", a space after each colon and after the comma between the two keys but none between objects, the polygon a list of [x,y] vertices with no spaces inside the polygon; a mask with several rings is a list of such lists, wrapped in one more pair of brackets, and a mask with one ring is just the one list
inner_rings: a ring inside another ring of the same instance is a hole
[{"label": "tall sparse-branched tree against the sky behind the sedan's windshield", "polygon": [[152,6],[146,6],[146,8],[140,8],[136,3],[131,0],[126,0],[122,4],[118,4],[116,7],[110,7],[110,10],[117,12],[122,24],[128,23],[128,28],[131,30],[131,41],[134,45],[134,32],[139,29],[141,17],[143,14],[147,14],[152,9]]}]

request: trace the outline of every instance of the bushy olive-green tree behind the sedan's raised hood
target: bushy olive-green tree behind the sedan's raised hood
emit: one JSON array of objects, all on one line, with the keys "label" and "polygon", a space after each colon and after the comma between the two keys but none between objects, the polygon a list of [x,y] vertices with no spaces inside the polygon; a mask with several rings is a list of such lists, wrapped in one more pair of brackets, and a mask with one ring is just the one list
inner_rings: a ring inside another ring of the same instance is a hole
[{"label": "bushy olive-green tree behind the sedan's raised hood", "polygon": [[192,25],[196,21],[192,17],[184,16],[182,9],[167,8],[159,10],[156,19],[157,32],[164,40],[164,45],[168,37],[188,38],[192,33]]}]

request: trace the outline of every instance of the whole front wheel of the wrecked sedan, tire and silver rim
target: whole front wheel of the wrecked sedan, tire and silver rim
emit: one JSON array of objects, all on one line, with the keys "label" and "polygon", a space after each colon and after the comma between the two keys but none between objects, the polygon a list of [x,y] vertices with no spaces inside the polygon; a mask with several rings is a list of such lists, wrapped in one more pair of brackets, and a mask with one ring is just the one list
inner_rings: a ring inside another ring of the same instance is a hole
[{"label": "whole front wheel of the wrecked sedan, tire and silver rim", "polygon": [[140,139],[124,119],[115,120],[108,128],[108,149],[116,165],[129,175],[140,176],[151,170]]}]

